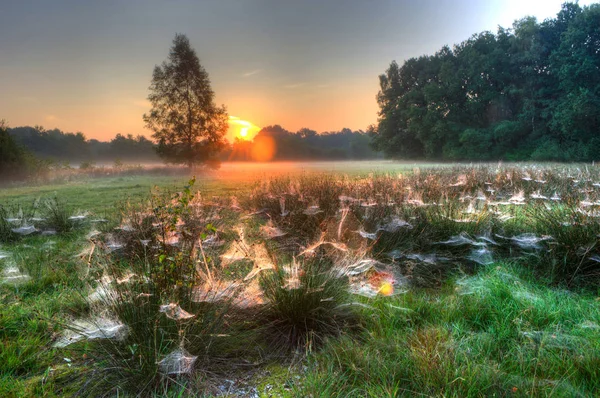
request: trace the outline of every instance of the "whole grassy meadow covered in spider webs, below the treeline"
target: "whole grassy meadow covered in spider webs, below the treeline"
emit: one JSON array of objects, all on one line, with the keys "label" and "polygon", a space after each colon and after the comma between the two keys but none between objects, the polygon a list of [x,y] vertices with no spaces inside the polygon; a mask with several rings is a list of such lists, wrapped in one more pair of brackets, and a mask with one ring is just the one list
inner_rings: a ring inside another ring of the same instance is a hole
[{"label": "whole grassy meadow covered in spider webs, below the treeline", "polygon": [[225,163],[0,190],[0,396],[600,394],[600,167]]}]

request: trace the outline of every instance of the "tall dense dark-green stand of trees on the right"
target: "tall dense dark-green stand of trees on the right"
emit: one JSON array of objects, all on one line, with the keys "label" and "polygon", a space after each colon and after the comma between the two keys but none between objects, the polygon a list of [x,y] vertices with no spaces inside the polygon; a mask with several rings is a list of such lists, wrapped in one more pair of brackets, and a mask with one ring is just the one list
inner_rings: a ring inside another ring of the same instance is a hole
[{"label": "tall dense dark-green stand of trees on the right", "polygon": [[600,159],[600,4],[394,61],[379,79],[369,130],[387,157]]}]

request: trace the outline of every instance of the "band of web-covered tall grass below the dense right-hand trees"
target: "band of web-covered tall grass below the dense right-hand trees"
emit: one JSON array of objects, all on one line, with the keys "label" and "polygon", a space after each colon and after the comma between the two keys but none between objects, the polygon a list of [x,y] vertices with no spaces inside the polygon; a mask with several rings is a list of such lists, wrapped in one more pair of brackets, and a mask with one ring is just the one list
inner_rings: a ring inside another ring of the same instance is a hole
[{"label": "band of web-covered tall grass below the dense right-hand trees", "polygon": [[[477,265],[473,249],[483,244],[498,259],[533,260],[540,274],[551,275],[556,283],[594,283],[600,276],[596,261],[600,188],[594,183],[598,180],[597,167],[304,176],[263,181],[244,204],[268,214],[275,227],[300,237],[300,245],[309,245],[331,229],[328,226],[336,225],[337,240],[349,243],[354,233],[363,232],[371,240],[369,250],[381,259],[394,252],[446,257],[451,261],[445,265],[427,266],[429,270],[437,266],[438,284],[459,263],[463,271],[473,270]],[[354,230],[349,229],[349,220],[354,220]],[[390,229],[393,220],[405,227]],[[521,235],[532,233],[542,239],[527,247],[522,242],[527,236]],[[461,235],[472,241],[471,246],[467,240],[449,243]]]}]

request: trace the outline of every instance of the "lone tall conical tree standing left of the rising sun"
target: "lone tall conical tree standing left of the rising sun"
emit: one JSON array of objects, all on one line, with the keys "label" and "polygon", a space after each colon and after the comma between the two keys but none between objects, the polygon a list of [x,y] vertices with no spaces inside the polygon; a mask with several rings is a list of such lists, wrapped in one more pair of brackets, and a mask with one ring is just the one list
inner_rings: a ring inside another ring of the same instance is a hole
[{"label": "lone tall conical tree standing left of the rising sun", "polygon": [[217,107],[208,73],[185,35],[176,34],[167,61],[155,66],[144,114],[158,141],[158,155],[168,163],[218,167],[225,147],[227,111]]}]

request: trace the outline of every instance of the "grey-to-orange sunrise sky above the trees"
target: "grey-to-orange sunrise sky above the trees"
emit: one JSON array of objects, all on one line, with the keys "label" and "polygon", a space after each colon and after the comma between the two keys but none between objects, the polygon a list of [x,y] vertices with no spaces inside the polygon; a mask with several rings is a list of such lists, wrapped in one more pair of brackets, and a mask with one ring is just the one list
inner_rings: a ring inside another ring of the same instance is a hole
[{"label": "grey-to-orange sunrise sky above the trees", "polygon": [[229,137],[272,124],[364,130],[392,60],[528,15],[552,18],[562,2],[0,0],[0,119],[99,140],[149,137],[152,70],[183,33],[234,116]]}]

